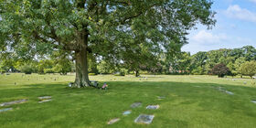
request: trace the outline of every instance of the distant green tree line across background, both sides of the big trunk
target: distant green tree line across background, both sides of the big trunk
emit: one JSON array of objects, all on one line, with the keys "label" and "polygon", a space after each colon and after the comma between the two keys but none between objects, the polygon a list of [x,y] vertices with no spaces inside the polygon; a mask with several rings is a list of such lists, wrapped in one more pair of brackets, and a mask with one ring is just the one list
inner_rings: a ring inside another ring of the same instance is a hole
[{"label": "distant green tree line across background, both sides of the big trunk", "polygon": [[[137,53],[139,54],[139,53]],[[67,74],[75,71],[75,64],[69,56],[52,54],[53,57],[29,61],[3,59],[0,61],[1,72],[29,73],[60,73]],[[59,57],[59,58],[58,58]],[[200,51],[195,55],[189,52],[175,52],[161,54],[157,58],[151,54],[134,54],[122,61],[107,60],[103,58],[89,58],[89,75],[97,74],[193,74],[250,76],[256,74],[256,49],[252,46],[243,48],[221,48],[208,52]]]}]

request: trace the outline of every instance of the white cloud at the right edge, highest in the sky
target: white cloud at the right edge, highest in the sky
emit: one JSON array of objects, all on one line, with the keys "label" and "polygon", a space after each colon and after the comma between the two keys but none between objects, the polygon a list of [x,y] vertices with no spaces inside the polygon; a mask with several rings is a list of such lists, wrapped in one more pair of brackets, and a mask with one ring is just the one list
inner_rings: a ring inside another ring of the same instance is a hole
[{"label": "white cloud at the right edge, highest in the sky", "polygon": [[[256,2],[256,0],[251,1]],[[241,8],[240,5],[229,5],[229,8],[225,13],[229,17],[256,23],[256,13],[251,12],[246,8]]]}]

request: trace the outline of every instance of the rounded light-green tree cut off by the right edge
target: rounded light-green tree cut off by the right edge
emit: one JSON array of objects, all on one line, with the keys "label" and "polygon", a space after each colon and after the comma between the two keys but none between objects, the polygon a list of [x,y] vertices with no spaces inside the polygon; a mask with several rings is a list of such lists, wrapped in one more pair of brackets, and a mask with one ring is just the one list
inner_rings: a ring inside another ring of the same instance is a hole
[{"label": "rounded light-green tree cut off by the right edge", "polygon": [[256,61],[247,61],[240,66],[240,73],[245,76],[254,76],[256,74]]}]

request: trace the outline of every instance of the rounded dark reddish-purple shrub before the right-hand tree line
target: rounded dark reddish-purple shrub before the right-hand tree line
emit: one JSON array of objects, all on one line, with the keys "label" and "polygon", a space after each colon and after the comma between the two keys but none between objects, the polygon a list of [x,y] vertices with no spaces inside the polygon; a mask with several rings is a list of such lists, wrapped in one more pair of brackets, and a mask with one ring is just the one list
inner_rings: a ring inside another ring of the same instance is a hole
[{"label": "rounded dark reddish-purple shrub before the right-hand tree line", "polygon": [[229,73],[229,68],[225,64],[220,63],[213,67],[211,73],[214,75],[218,75],[219,78],[223,78]]}]

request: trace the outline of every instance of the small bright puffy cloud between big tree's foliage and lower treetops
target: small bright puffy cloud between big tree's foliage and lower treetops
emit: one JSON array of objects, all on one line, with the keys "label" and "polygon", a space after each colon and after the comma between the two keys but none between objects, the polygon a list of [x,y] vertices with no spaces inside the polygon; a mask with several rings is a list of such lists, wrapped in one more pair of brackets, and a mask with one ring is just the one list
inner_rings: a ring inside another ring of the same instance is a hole
[{"label": "small bright puffy cloud between big tree's foliage and lower treetops", "polygon": [[199,31],[195,36],[191,37],[191,41],[197,42],[200,44],[216,44],[220,43],[223,40],[227,39],[226,34],[217,34],[214,35],[206,30]]}]

